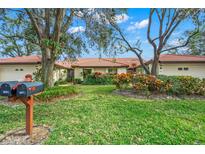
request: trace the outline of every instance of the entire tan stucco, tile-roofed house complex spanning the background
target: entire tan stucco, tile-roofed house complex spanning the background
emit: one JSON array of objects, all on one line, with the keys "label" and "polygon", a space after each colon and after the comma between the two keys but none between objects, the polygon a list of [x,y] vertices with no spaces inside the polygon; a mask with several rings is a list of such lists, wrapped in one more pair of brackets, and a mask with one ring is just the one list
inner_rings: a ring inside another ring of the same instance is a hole
[{"label": "entire tan stucco, tile-roofed house complex spanning the background", "polygon": [[[151,69],[151,62],[146,65]],[[0,59],[0,82],[22,80],[25,74],[34,74],[41,67],[40,56],[23,56]],[[59,79],[81,79],[85,74],[101,72],[120,74],[137,72],[137,58],[78,58],[75,61],[55,63],[54,81]],[[188,75],[205,78],[205,56],[162,54],[157,68],[159,75]]]}]

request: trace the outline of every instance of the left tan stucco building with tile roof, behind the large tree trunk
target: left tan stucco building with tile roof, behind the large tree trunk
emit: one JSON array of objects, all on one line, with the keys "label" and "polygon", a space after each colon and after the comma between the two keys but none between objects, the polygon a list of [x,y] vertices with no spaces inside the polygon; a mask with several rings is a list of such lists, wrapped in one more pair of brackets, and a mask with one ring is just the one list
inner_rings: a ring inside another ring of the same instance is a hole
[{"label": "left tan stucco building with tile roof, behind the large tree trunk", "polygon": [[[21,81],[25,74],[34,74],[41,67],[40,56],[22,56],[0,59],[0,82]],[[67,66],[62,62],[55,63],[54,81],[67,78]]]}]

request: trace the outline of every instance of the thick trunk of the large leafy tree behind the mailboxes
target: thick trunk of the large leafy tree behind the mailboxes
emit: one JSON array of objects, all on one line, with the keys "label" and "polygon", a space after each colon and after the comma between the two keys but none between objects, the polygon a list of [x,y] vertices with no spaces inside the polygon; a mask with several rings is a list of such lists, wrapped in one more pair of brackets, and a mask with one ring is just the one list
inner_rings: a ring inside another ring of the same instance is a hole
[{"label": "thick trunk of the large leafy tree behind the mailboxes", "polygon": [[55,59],[51,55],[49,48],[44,49],[42,53],[42,81],[45,87],[53,87],[53,71],[54,71]]}]

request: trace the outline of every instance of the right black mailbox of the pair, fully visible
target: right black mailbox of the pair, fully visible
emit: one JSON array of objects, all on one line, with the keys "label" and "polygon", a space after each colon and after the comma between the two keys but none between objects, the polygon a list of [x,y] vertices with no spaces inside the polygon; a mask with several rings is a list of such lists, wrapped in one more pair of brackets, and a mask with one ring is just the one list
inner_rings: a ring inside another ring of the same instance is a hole
[{"label": "right black mailbox of the pair, fully visible", "polygon": [[44,90],[42,82],[19,82],[16,88],[17,97],[28,97]]}]

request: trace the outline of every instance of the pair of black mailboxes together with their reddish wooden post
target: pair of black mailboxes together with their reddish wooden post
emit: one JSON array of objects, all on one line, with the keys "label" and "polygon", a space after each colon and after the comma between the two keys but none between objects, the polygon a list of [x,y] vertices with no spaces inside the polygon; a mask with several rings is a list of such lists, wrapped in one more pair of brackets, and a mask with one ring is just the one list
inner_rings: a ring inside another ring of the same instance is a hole
[{"label": "pair of black mailboxes together with their reddish wooden post", "polygon": [[34,95],[44,90],[41,82],[8,81],[0,83],[0,95],[8,96],[11,100],[21,100],[26,106],[26,134],[32,135]]}]

